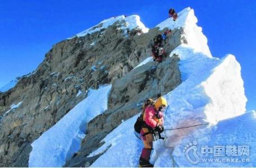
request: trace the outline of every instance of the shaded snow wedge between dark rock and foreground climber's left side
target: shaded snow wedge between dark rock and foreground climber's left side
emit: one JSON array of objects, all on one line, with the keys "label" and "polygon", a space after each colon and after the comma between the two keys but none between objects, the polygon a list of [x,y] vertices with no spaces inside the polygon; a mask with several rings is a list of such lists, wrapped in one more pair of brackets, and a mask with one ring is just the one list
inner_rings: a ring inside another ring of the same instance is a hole
[{"label": "shaded snow wedge between dark rock and foreground climber's left side", "polygon": [[102,142],[106,143],[90,153],[89,157],[110,148],[91,167],[138,167],[143,143],[134,136],[133,127],[137,118],[138,115],[126,120],[103,139]]}]

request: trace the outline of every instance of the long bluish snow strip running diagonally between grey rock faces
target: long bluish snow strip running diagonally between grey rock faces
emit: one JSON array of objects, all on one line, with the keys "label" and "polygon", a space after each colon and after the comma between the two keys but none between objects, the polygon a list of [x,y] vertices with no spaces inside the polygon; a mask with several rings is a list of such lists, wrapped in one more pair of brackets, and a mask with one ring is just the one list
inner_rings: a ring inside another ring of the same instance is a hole
[{"label": "long bluish snow strip running diagonally between grey rock faces", "polygon": [[86,123],[107,110],[110,90],[111,85],[90,90],[85,100],[36,139],[31,144],[33,150],[29,155],[29,167],[61,167],[79,151]]}]

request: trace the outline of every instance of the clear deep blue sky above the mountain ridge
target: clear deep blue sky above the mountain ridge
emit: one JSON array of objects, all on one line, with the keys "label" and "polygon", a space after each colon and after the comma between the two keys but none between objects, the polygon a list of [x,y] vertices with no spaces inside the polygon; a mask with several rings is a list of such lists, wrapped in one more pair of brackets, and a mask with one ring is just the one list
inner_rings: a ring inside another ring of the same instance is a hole
[{"label": "clear deep blue sky above the mountain ridge", "polygon": [[256,1],[1,1],[0,86],[36,69],[52,45],[118,15],[137,14],[147,27],[168,9],[195,10],[215,57],[234,54],[242,67],[247,109],[256,109]]}]

